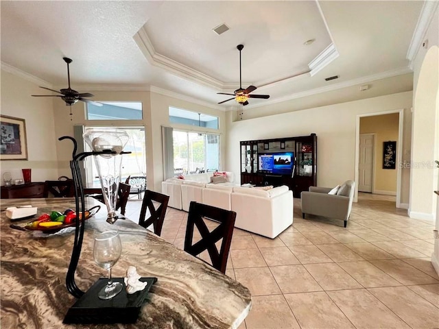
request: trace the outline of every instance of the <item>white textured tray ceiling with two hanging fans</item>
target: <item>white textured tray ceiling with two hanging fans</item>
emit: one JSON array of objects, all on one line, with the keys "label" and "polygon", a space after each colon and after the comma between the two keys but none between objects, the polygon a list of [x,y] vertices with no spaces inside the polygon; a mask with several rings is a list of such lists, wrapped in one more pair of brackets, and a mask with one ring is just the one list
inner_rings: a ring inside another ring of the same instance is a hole
[{"label": "white textured tray ceiling with two hanging fans", "polygon": [[[1,1],[2,68],[65,88],[169,90],[216,104],[259,87],[250,106],[410,72],[424,1]],[[218,36],[212,29],[225,23]],[[311,45],[304,42],[316,39]],[[309,64],[332,45],[320,71]],[[340,78],[326,82],[325,77]],[[366,78],[365,78],[366,77]],[[47,83],[47,84],[46,84]],[[154,86],[154,87],[151,87]],[[49,93],[49,92],[48,92]],[[45,95],[45,90],[42,90]],[[36,99],[36,101],[38,101]],[[221,107],[235,105],[235,101]]]}]

